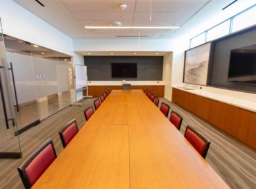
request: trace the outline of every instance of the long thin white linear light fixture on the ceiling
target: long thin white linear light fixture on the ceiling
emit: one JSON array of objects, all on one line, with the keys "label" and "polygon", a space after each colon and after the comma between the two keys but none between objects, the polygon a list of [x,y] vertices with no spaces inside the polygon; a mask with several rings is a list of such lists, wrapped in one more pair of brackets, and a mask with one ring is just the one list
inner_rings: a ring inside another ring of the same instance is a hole
[{"label": "long thin white linear light fixture on the ceiling", "polygon": [[85,26],[85,29],[178,29],[179,26]]}]

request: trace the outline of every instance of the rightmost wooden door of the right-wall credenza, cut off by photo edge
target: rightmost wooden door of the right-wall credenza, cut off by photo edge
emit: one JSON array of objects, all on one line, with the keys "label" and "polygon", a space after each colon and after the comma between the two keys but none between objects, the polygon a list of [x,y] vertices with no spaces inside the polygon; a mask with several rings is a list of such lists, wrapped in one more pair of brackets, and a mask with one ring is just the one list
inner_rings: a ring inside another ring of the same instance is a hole
[{"label": "rightmost wooden door of the right-wall credenza, cut off by photo edge", "polygon": [[246,144],[256,149],[256,114],[254,112],[250,115]]}]

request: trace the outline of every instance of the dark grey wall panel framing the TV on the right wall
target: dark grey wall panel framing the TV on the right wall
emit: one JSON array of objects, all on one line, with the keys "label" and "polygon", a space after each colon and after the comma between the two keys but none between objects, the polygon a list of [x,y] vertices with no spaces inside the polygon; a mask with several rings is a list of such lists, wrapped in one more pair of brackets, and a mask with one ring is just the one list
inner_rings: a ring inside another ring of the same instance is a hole
[{"label": "dark grey wall panel framing the TV on the right wall", "polygon": [[256,84],[228,82],[230,51],[234,48],[253,44],[256,44],[256,28],[250,28],[214,42],[211,85],[239,91],[256,92]]}]

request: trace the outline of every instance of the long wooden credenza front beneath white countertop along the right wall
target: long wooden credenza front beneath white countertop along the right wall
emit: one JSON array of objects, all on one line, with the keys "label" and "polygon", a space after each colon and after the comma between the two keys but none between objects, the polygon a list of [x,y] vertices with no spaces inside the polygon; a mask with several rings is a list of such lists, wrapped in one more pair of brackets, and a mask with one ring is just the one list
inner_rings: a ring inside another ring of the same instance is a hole
[{"label": "long wooden credenza front beneath white countertop along the right wall", "polygon": [[256,113],[173,88],[172,101],[256,150]]}]

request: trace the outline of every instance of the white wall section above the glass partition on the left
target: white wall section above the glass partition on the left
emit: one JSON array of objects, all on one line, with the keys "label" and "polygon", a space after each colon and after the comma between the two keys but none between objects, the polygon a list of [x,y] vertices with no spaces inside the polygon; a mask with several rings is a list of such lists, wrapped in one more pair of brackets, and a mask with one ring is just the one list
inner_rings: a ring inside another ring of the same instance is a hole
[{"label": "white wall section above the glass partition on the left", "polygon": [[11,0],[0,0],[3,33],[73,55],[72,39]]}]

